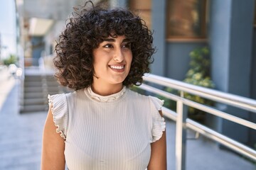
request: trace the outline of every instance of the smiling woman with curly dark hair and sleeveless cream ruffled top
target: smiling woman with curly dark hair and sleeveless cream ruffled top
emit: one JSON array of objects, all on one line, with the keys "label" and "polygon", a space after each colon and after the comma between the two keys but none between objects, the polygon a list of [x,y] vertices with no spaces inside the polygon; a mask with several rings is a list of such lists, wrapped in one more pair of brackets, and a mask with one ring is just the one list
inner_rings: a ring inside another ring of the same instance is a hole
[{"label": "smiling woman with curly dark hair and sleeveless cream ruffled top", "polygon": [[151,32],[130,11],[88,5],[55,46],[55,77],[75,91],[48,96],[41,169],[166,169],[163,101],[127,88],[149,72]]}]

